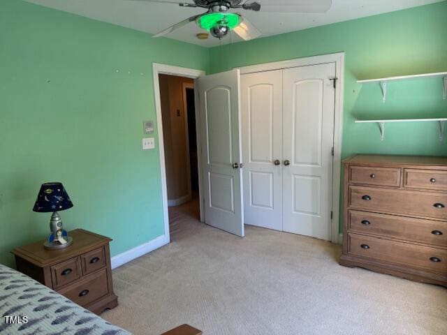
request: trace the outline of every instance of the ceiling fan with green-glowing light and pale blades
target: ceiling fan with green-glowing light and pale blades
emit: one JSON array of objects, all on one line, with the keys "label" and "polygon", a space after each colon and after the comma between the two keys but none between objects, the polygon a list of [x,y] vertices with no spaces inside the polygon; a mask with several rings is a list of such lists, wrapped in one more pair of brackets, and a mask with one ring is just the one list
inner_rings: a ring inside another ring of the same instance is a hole
[{"label": "ceiling fan with green-glowing light and pale blades", "polygon": [[216,38],[223,38],[233,30],[244,40],[251,40],[261,36],[253,24],[240,13],[233,13],[231,9],[265,11],[274,13],[325,13],[332,6],[332,0],[191,0],[193,2],[179,2],[173,0],[133,0],[158,3],[177,4],[181,7],[206,8],[205,13],[194,15],[186,20],[160,31],[152,37],[161,37],[176,29],[182,28],[190,22],[196,22],[198,27],[210,31]]}]

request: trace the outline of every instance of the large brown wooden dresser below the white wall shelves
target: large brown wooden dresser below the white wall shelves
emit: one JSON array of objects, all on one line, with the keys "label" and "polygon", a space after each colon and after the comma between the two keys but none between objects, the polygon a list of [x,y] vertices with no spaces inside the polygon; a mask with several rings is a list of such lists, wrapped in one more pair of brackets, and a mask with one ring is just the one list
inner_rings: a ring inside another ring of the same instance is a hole
[{"label": "large brown wooden dresser below the white wall shelves", "polygon": [[347,158],[339,263],[447,286],[447,157]]}]

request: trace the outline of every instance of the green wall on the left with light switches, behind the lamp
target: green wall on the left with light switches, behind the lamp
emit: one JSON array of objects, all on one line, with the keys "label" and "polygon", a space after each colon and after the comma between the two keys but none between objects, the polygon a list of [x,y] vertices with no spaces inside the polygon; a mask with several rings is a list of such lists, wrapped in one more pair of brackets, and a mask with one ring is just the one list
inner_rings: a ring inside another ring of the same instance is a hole
[{"label": "green wall on the left with light switches, behind the lamp", "polygon": [[158,145],[141,148],[142,121],[156,119],[152,62],[206,69],[208,59],[202,47],[1,0],[0,262],[49,232],[50,214],[31,211],[46,181],[71,195],[65,227],[112,237],[112,255],[162,235]]}]

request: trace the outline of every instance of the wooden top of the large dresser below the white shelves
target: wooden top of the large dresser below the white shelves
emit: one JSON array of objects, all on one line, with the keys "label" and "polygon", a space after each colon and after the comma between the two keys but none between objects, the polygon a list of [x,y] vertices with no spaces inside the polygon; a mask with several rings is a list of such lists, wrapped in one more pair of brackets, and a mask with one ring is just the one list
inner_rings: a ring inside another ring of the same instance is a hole
[{"label": "wooden top of the large dresser below the white shelves", "polygon": [[437,165],[447,167],[447,157],[443,156],[398,156],[398,155],[355,155],[344,163],[386,164],[386,165]]}]

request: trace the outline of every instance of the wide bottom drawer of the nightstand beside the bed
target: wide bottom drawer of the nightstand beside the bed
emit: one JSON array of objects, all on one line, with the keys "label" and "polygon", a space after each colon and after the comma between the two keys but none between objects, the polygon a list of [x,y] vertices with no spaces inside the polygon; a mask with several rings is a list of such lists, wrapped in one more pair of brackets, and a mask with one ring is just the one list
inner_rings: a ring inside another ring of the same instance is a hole
[{"label": "wide bottom drawer of the nightstand beside the bed", "polygon": [[86,306],[108,294],[107,272],[105,269],[85,276],[79,283],[58,291],[71,301]]}]

